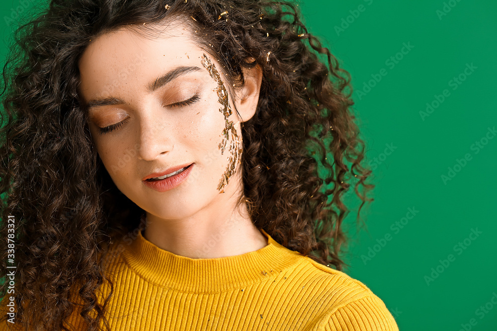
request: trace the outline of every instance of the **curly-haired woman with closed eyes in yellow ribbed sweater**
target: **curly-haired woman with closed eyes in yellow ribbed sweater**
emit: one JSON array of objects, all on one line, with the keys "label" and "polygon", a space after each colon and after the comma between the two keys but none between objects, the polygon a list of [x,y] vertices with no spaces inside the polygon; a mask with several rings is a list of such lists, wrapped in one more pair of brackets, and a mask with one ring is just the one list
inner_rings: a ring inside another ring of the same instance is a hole
[{"label": "curly-haired woman with closed eyes in yellow ribbed sweater", "polygon": [[398,330],[340,271],[343,193],[371,201],[371,171],[349,75],[299,16],[53,0],[19,30],[0,330]]}]

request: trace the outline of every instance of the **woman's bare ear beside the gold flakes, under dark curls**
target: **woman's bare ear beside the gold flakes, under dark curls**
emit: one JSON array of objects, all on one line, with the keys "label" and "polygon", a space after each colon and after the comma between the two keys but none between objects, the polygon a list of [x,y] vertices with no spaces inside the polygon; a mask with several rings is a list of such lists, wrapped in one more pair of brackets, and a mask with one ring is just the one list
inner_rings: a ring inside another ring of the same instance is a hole
[{"label": "woman's bare ear beside the gold flakes, under dark curls", "polygon": [[237,93],[239,98],[236,100],[236,106],[240,116],[240,121],[246,122],[252,118],[257,109],[259,101],[260,84],[262,82],[262,69],[259,65],[251,69],[244,68],[245,85]]}]

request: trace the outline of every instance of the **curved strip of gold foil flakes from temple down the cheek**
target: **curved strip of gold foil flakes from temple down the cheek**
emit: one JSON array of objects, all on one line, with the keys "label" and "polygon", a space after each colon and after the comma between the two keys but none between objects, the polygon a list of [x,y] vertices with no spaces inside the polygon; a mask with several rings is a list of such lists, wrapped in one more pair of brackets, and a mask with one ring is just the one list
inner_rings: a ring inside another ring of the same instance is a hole
[{"label": "curved strip of gold foil flakes from temple down the cheek", "polygon": [[[216,88],[217,94],[219,97],[219,103],[223,106],[222,108],[219,109],[221,113],[223,113],[224,120],[226,123],[226,126],[222,132],[222,135],[224,136],[223,140],[221,143],[219,143],[219,149],[221,150],[221,155],[224,154],[224,151],[226,150],[226,146],[228,142],[230,143],[228,151],[230,152],[230,156],[228,157],[228,166],[226,167],[226,171],[224,172],[219,185],[218,185],[218,191],[219,193],[224,193],[224,187],[229,184],[231,176],[236,171],[236,167],[239,163],[242,162],[242,151],[243,151],[243,140],[242,140],[242,135],[238,134],[236,126],[240,123],[233,123],[233,121],[228,121],[228,118],[230,117],[231,114],[233,114],[233,111],[231,110],[229,99],[228,99],[228,91],[226,90],[226,87],[223,84],[223,81],[221,80],[221,76],[219,75],[219,72],[216,69],[216,66],[211,63],[211,61],[207,58],[205,54],[202,56],[202,66],[204,66],[207,71],[209,71],[209,74],[211,77],[218,83],[218,87]],[[230,132],[231,132],[231,139],[230,139]]]}]

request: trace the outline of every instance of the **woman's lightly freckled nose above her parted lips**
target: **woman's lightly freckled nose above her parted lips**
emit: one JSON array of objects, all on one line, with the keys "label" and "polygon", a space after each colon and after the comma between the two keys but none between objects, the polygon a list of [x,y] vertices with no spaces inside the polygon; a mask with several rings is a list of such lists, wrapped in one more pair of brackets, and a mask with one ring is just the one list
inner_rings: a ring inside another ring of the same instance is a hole
[{"label": "woman's lightly freckled nose above her parted lips", "polygon": [[170,126],[158,120],[157,117],[142,117],[138,130],[137,146],[140,160],[155,160],[172,150],[174,144]]}]

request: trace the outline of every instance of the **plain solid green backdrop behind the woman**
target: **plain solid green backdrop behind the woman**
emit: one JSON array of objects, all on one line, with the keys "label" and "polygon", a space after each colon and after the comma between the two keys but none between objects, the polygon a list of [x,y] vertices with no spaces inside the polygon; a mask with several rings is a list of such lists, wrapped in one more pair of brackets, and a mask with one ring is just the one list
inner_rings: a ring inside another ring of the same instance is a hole
[{"label": "plain solid green backdrop behind the woman", "polygon": [[[385,302],[401,331],[496,331],[497,2],[299,3],[309,32],[352,76],[376,184],[361,212],[369,233],[351,230],[344,272]],[[15,10],[33,7],[1,2],[2,59]]]}]

